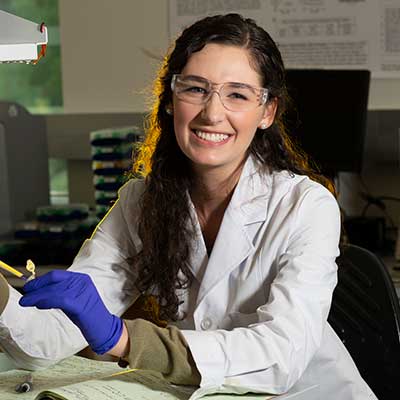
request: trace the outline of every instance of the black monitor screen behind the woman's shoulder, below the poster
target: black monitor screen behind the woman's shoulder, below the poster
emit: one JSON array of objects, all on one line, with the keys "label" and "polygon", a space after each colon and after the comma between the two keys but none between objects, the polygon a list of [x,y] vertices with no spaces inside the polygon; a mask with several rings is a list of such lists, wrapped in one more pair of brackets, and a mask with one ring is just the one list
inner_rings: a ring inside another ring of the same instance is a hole
[{"label": "black monitor screen behind the woman's shoulder, below the poster", "polygon": [[370,72],[289,69],[286,78],[297,109],[288,114],[295,142],[322,173],[360,172]]}]

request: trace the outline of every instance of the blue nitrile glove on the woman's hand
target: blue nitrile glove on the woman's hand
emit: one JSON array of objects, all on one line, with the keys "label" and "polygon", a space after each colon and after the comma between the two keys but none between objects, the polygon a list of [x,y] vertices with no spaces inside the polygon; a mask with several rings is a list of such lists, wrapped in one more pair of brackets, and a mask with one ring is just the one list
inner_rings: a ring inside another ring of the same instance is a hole
[{"label": "blue nitrile glove on the woman's hand", "polygon": [[97,354],[111,350],[121,337],[121,318],[107,310],[89,275],[51,271],[27,282],[24,293],[19,301],[21,306],[61,309]]}]

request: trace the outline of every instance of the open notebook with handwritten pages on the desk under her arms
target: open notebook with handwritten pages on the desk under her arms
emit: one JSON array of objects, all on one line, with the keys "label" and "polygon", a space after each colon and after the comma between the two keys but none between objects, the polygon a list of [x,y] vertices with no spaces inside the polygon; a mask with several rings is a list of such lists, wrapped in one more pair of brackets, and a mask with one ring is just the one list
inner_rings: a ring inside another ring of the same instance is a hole
[{"label": "open notebook with handwritten pages on the desk under her arms", "polygon": [[[16,393],[15,387],[24,381],[28,372],[10,368],[12,365],[5,355],[0,353],[0,400],[196,400],[209,392],[206,389],[199,391],[197,387],[171,385],[161,375],[152,371],[123,370],[114,362],[94,361],[74,356],[46,370],[33,372],[33,390]],[[281,396],[212,394],[207,395],[205,399],[311,398],[306,393],[304,395],[301,393]]]}]

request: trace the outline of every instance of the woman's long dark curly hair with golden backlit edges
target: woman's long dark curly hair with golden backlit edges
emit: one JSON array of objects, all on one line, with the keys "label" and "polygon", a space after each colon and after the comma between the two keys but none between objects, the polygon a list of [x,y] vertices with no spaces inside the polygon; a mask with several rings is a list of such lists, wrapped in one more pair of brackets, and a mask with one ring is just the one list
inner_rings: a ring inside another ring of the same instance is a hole
[{"label": "woman's long dark curly hair with golden backlit edges", "polygon": [[146,139],[137,152],[133,174],[145,178],[141,197],[139,236],[143,249],[134,263],[136,282],[142,292],[158,297],[161,317],[178,318],[177,289],[191,285],[189,268],[194,243],[188,193],[194,183],[188,159],[175,139],[171,80],[189,57],[208,43],[238,46],[250,54],[252,67],[262,77],[263,87],[277,103],[274,123],[259,131],[248,149],[265,171],[288,170],[308,175],[333,191],[330,181],[310,167],[307,156],[290,140],[285,113],[290,103],[281,54],[269,36],[252,19],[239,14],[206,17],[186,28],[166,55],[154,84],[154,103],[146,120]]}]

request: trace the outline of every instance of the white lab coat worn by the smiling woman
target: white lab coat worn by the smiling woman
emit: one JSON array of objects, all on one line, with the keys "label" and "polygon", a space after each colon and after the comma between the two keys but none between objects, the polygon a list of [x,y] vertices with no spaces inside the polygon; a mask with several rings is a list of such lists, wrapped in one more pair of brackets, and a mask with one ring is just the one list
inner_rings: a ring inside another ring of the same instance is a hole
[{"label": "white lab coat worn by the smiling woman", "polygon": [[[130,181],[70,270],[88,273],[109,310],[121,315],[139,295],[131,258],[143,181]],[[337,283],[340,234],[333,196],[308,177],[258,173],[249,157],[210,257],[196,222],[190,268],[180,290],[181,329],[201,374],[200,391],[285,393],[318,385],[324,400],[376,399],[327,322]],[[25,368],[44,367],[86,346],[59,310],[10,301],[0,345]]]}]

